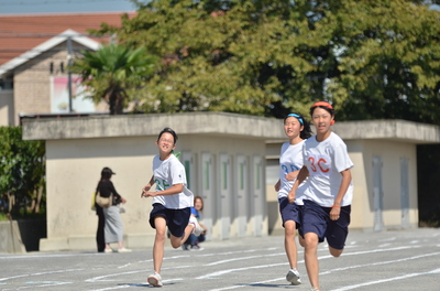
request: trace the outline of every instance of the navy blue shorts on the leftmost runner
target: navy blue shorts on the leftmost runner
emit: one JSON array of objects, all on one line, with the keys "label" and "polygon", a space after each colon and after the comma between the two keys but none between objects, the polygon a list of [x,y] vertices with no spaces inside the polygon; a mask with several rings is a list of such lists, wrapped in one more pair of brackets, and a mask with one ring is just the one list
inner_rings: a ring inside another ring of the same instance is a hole
[{"label": "navy blue shorts on the leftmost runner", "polygon": [[153,211],[150,213],[150,225],[153,228],[156,228],[154,226],[154,218],[163,216],[166,220],[166,226],[168,227],[169,233],[175,237],[183,237],[185,228],[188,226],[190,215],[190,207],[183,209],[168,209],[160,203],[154,203]]}]

